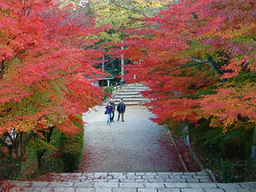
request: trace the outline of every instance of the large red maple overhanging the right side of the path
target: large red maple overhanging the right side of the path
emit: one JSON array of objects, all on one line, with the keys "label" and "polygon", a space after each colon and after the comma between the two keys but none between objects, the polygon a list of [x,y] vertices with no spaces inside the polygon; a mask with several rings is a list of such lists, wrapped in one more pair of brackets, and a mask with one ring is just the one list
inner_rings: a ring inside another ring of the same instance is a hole
[{"label": "large red maple overhanging the right side of the path", "polygon": [[[145,82],[153,120],[170,128],[202,118],[225,133],[255,128],[255,2],[181,1],[120,46]],[[121,51],[118,52],[120,54]],[[182,128],[178,128],[182,131]]]}]

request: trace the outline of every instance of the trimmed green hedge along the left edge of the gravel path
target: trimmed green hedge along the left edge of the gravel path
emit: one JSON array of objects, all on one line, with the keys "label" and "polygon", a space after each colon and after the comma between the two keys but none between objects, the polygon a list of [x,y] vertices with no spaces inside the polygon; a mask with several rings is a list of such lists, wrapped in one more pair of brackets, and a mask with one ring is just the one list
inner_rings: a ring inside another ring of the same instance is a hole
[{"label": "trimmed green hedge along the left edge of the gravel path", "polygon": [[73,172],[80,166],[83,155],[83,126],[78,122],[74,122],[74,125],[81,128],[80,133],[62,134],[61,159],[64,162],[64,169],[68,172]]}]

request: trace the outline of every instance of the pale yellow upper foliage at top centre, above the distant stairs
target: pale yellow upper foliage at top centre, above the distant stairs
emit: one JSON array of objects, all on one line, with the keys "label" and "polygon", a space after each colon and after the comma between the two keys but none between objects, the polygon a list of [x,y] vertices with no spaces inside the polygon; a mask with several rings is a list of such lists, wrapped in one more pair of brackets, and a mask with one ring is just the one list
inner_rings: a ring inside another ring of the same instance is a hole
[{"label": "pale yellow upper foliage at top centre, above the distant stairs", "polygon": [[[141,26],[140,18],[145,15],[149,17],[159,11],[159,7],[164,6],[163,1],[136,0],[136,1],[91,1],[91,9],[96,12],[97,26],[111,25],[111,28],[130,28]],[[132,18],[135,18],[133,20]]]}]

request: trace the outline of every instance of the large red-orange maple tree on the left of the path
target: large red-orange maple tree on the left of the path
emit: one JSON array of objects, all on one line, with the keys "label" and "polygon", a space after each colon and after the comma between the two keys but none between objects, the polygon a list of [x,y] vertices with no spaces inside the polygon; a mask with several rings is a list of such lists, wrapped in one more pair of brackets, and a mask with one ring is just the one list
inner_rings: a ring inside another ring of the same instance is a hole
[{"label": "large red-orange maple tree on the left of the path", "polygon": [[91,50],[98,33],[86,9],[58,1],[0,1],[0,153],[18,164],[35,135],[57,127],[78,128],[72,119],[102,96],[91,81],[102,55]]}]

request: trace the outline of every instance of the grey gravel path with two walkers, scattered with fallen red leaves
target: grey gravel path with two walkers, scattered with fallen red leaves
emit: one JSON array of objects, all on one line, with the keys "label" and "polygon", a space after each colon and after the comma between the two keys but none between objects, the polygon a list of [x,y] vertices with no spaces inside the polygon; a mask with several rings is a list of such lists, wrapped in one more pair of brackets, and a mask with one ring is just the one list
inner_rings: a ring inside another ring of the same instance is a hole
[{"label": "grey gravel path with two walkers, scattered with fallen red leaves", "polygon": [[143,106],[127,106],[124,120],[107,124],[105,106],[83,117],[83,158],[78,172],[175,172],[170,154],[160,145],[165,130],[148,118]]}]

